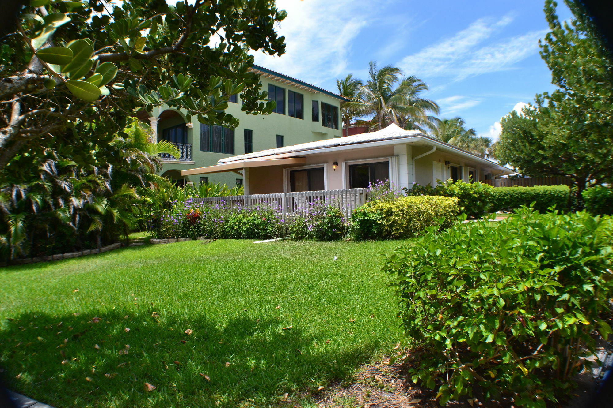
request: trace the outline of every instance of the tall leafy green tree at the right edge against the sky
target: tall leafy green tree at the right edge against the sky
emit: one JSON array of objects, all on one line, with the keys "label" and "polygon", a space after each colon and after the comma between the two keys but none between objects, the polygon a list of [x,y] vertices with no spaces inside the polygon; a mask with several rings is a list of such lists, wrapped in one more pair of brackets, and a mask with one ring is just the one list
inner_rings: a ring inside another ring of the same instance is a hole
[{"label": "tall leafy green tree at the right edge against the sky", "polygon": [[541,42],[557,89],[503,118],[496,156],[529,176],[568,176],[581,208],[588,182],[613,181],[613,63],[580,2],[565,3],[573,17],[561,23],[546,1]]}]

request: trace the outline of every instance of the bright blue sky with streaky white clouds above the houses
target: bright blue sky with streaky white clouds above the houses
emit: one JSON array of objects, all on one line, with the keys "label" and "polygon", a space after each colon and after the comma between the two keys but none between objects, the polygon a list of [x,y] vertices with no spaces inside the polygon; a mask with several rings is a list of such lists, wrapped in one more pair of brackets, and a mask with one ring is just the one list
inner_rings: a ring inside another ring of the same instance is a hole
[{"label": "bright blue sky with streaky white clouds above the houses", "polygon": [[[538,55],[547,32],[541,0],[278,0],[288,17],[281,57],[256,64],[336,91],[336,79],[365,79],[368,61],[401,67],[429,86],[441,118],[461,116],[497,138],[500,118],[552,91]],[[570,17],[560,5],[562,20]],[[519,105],[520,106],[520,105]]]}]

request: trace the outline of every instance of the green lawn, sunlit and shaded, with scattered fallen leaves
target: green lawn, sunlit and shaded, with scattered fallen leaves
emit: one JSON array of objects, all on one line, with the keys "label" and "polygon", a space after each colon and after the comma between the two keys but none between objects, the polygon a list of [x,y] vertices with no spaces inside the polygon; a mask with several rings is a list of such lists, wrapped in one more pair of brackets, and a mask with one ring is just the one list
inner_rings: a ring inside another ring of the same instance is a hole
[{"label": "green lawn, sunlit and shaded, with scattered fallen leaves", "polygon": [[58,408],[275,406],[398,342],[379,252],[401,243],[191,241],[3,268],[0,365]]}]

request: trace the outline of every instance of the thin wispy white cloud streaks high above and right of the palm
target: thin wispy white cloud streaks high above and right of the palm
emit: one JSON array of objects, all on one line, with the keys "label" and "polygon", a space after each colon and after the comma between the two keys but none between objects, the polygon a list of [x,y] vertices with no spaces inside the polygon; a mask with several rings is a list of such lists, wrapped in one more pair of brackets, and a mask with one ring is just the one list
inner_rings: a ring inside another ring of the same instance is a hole
[{"label": "thin wispy white cloud streaks high above and right of the palm", "polygon": [[538,51],[538,39],[546,32],[531,31],[493,45],[486,44],[512,20],[510,15],[497,21],[480,18],[455,36],[406,56],[398,64],[408,74],[424,78],[449,77],[456,81],[512,69],[513,64]]}]

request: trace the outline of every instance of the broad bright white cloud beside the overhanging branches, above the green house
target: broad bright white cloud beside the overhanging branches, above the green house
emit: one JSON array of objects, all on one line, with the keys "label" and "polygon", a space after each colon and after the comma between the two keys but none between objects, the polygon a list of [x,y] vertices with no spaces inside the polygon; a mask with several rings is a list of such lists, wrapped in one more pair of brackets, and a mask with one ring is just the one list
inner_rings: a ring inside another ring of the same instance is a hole
[{"label": "broad bright white cloud beside the overhanging branches, above the green house", "polygon": [[[311,83],[344,73],[349,47],[365,25],[364,0],[278,0],[287,10],[278,32],[286,37],[281,57],[255,53],[256,64]],[[348,13],[347,10],[351,10]]]}]

